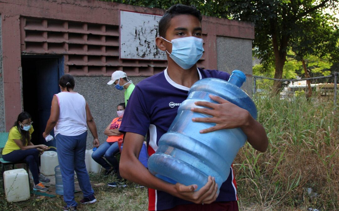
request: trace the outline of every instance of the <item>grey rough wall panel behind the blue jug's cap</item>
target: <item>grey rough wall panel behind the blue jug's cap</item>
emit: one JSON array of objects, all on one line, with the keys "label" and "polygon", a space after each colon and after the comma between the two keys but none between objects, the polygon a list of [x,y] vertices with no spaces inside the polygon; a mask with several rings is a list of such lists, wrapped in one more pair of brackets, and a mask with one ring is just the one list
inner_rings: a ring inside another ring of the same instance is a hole
[{"label": "grey rough wall panel behind the blue jug's cap", "polygon": [[240,70],[246,74],[241,88],[252,97],[252,40],[217,36],[217,61],[218,70],[228,73]]}]

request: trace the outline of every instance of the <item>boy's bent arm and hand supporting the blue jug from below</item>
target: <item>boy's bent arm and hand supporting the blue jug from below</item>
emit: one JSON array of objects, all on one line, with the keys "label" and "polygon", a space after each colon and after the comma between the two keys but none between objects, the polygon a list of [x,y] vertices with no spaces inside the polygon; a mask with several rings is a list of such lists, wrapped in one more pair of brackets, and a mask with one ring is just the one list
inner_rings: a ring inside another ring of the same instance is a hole
[{"label": "boy's bent arm and hand supporting the blue jug from below", "polygon": [[217,184],[211,177],[208,177],[208,182],[204,187],[194,191],[197,189],[197,185],[185,186],[179,183],[173,185],[149,173],[147,168],[138,160],[144,138],[144,136],[137,133],[126,133],[119,164],[121,177],[149,188],[165,191],[196,204],[210,204],[217,199]]}]

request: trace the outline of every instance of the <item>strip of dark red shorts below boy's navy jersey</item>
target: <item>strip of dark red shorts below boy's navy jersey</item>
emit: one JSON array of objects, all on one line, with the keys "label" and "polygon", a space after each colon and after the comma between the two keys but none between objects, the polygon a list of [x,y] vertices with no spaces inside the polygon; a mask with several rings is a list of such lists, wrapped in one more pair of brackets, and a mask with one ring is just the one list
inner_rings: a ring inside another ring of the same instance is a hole
[{"label": "strip of dark red shorts below boy's navy jersey", "polygon": [[212,204],[184,204],[164,211],[239,211],[238,201],[213,202]]}]

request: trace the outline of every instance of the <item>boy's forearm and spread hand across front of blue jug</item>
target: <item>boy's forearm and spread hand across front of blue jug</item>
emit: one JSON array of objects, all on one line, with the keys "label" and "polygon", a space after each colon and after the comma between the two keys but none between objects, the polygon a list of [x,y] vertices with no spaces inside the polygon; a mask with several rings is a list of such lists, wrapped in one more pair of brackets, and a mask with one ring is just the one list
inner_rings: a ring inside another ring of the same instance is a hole
[{"label": "boy's forearm and spread hand across front of blue jug", "polygon": [[213,117],[193,118],[195,122],[213,122],[216,126],[201,130],[200,133],[208,133],[221,129],[241,128],[247,136],[247,141],[254,149],[265,152],[268,146],[268,138],[264,127],[256,121],[251,114],[239,106],[224,100],[218,96],[210,95],[210,98],[220,104],[197,101],[195,104],[208,108],[192,108],[194,112],[212,115]]}]

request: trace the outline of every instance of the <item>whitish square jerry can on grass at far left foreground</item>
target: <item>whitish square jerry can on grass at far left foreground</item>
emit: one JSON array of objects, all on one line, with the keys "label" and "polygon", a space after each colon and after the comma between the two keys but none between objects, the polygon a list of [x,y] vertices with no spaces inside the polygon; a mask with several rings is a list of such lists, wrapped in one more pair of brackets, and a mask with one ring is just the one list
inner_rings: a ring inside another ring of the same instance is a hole
[{"label": "whitish square jerry can on grass at far left foreground", "polygon": [[28,173],[23,168],[7,170],[3,173],[7,202],[20,202],[29,199]]}]

